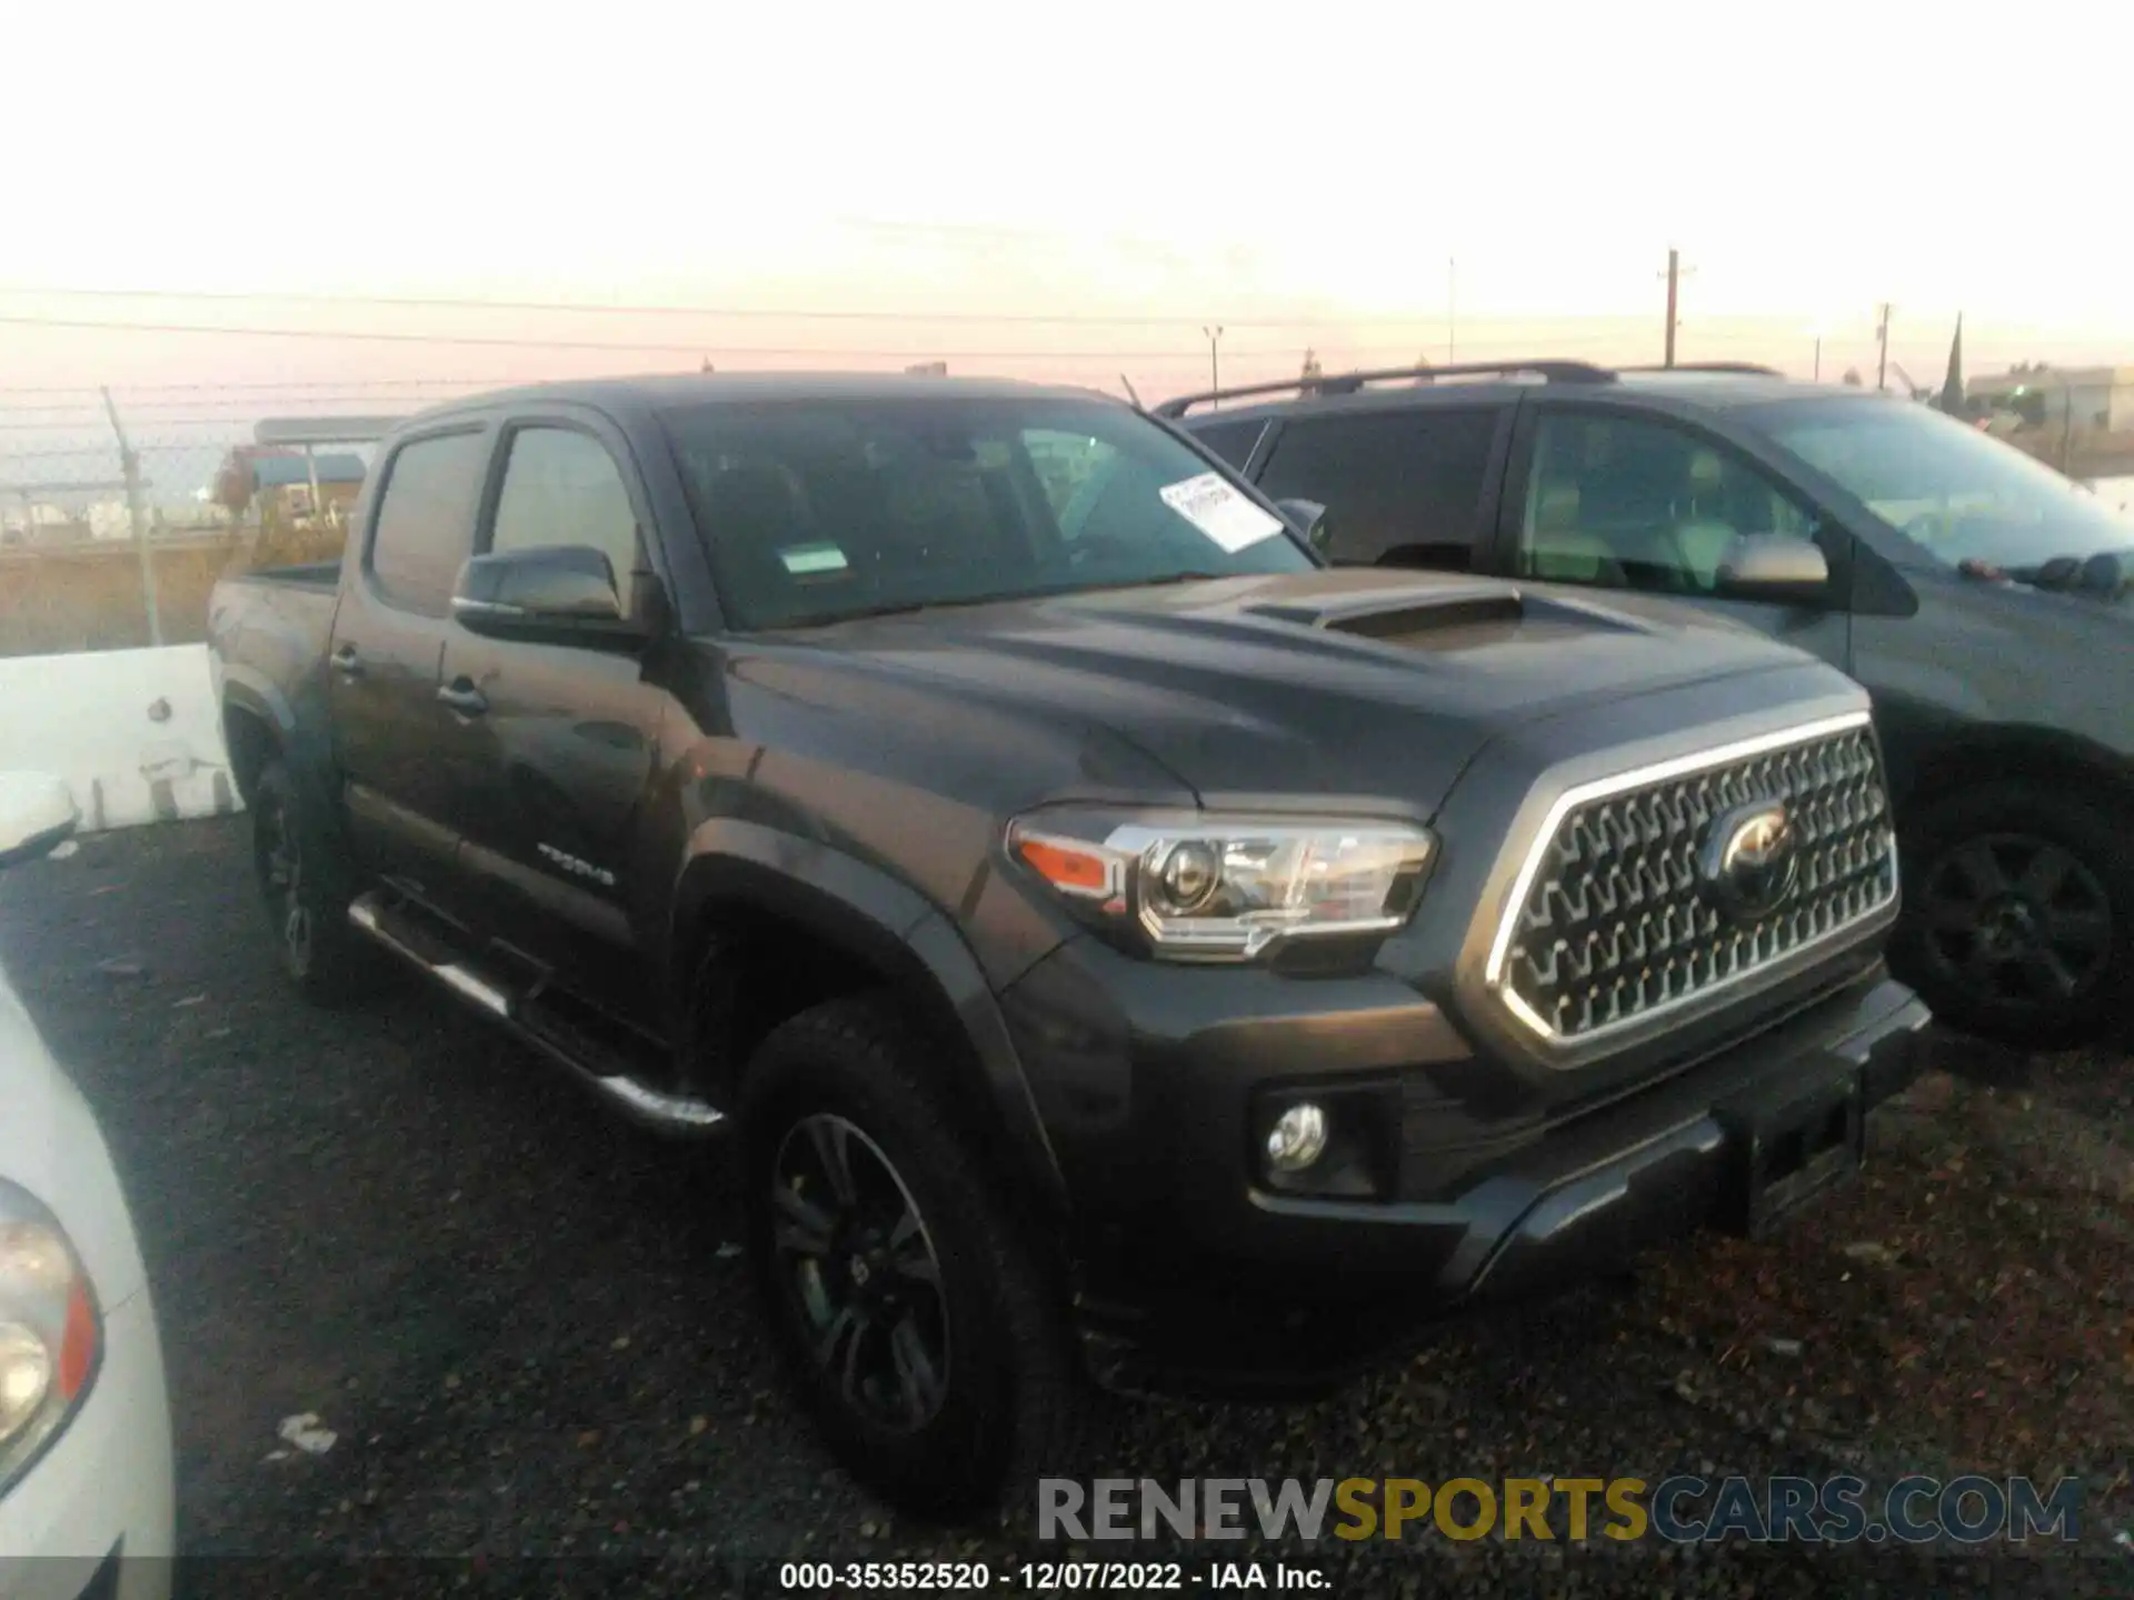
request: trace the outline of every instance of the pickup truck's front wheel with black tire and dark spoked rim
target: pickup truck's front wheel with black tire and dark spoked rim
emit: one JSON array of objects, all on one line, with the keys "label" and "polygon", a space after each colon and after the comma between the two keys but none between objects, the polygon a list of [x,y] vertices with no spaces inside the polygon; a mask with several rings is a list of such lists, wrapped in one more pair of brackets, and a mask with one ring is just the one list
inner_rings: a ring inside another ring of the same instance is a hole
[{"label": "pickup truck's front wheel with black tire and dark spoked rim", "polygon": [[832,1001],[755,1052],[740,1129],[749,1257],[805,1408],[869,1489],[956,1519],[1073,1472],[1088,1393],[1061,1274],[924,1071],[937,1056],[888,998]]}]

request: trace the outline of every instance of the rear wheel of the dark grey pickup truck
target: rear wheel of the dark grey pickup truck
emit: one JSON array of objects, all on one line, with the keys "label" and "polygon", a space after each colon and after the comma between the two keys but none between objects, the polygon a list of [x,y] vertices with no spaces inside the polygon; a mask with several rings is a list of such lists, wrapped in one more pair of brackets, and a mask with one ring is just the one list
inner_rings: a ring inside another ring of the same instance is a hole
[{"label": "rear wheel of the dark grey pickup truck", "polygon": [[384,956],[348,924],[356,873],[282,762],[252,787],[252,868],[282,971],[312,1005],[371,994]]}]

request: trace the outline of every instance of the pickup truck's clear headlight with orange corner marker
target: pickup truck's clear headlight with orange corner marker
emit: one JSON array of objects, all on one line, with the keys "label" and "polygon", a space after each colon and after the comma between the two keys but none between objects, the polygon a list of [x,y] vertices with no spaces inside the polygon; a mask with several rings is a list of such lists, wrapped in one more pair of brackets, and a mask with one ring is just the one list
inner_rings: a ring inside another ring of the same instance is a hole
[{"label": "pickup truck's clear headlight with orange corner marker", "polygon": [[1389,821],[1063,809],[1009,823],[1007,853],[1157,956],[1251,960],[1285,939],[1402,926],[1432,838]]}]

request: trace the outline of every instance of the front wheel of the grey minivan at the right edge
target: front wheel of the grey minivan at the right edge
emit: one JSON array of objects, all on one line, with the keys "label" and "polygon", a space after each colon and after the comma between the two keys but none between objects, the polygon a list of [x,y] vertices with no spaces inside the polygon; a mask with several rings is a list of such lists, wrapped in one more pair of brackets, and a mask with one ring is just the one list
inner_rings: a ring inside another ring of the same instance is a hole
[{"label": "front wheel of the grey minivan at the right edge", "polygon": [[1965,1033],[2070,1050],[2134,1024],[2134,819],[1993,783],[1904,828],[1897,975]]}]

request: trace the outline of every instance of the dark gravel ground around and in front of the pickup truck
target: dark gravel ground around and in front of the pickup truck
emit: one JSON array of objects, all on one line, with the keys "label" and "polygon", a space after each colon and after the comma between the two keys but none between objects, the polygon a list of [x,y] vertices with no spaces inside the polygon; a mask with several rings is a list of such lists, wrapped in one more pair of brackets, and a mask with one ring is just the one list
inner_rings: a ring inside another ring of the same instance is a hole
[{"label": "dark gravel ground around and in front of the pickup truck", "polygon": [[[909,1527],[785,1404],[715,1152],[604,1120],[410,986],[280,986],[241,819],[0,879],[0,960],[102,1116],[164,1327],[186,1594],[713,1594],[777,1559],[992,1562]],[[1342,1596],[2134,1591],[2134,1075],[1936,1045],[1861,1184],[1780,1242],[1440,1329],[1315,1406],[1108,1404],[1069,1476],[2079,1474],[2074,1547],[1176,1551]],[[324,1455],[284,1453],[318,1412]],[[1118,1555],[1082,1551],[1084,1555]],[[1148,1557],[1150,1549],[1133,1551]],[[585,1559],[602,1557],[602,1559]],[[743,1568],[721,1568],[743,1562]],[[1268,1568],[1272,1574],[1272,1568]]]}]

